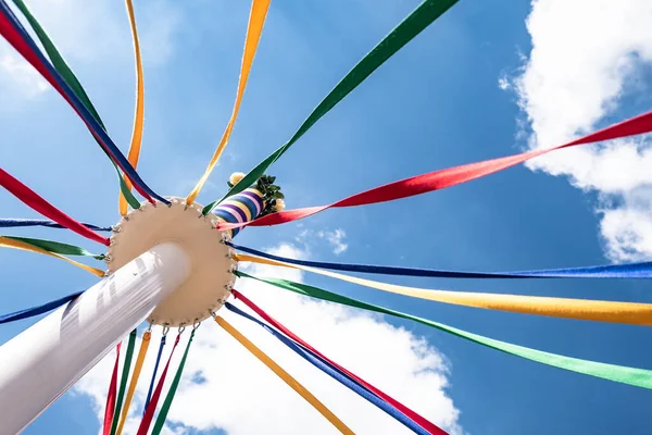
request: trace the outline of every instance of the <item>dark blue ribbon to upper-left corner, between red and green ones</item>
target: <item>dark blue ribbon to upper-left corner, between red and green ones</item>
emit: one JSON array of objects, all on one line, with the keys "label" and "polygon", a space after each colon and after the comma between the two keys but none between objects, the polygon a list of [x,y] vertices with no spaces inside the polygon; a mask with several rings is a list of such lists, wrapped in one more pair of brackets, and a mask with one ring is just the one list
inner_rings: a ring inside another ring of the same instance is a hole
[{"label": "dark blue ribbon to upper-left corner, between red and green ones", "polygon": [[72,105],[79,113],[82,119],[89,125],[89,128],[96,136],[99,138],[100,142],[106,147],[106,149],[111,152],[111,154],[116,160],[116,163],[123,169],[123,171],[128,175],[128,177],[134,182],[134,184],[138,185],[142,188],[142,190],[147,191],[153,198],[156,198],[159,201],[168,204],[165,198],[159,196],[154,192],[140,178],[140,175],[134,170],[131,163],[127,160],[127,158],[122,153],[122,151],[115,146],[113,140],[109,137],[106,132],[101,127],[98,121],[92,116],[92,114],[86,109],[86,107],[79,101],[79,98],[75,95],[75,92],[71,89],[71,87],[65,83],[63,77],[59,74],[57,70],[48,62],[46,57],[38,49],[27,30],[23,27],[21,22],[16,18],[12,10],[9,8],[4,0],[0,0],[0,13],[4,15],[4,17],[10,22],[10,24],[14,27],[14,29],[21,35],[23,40],[29,46],[32,51],[36,54],[40,63],[48,70],[48,72],[54,78],[54,82],[62,89],[63,94],[70,99]]}]

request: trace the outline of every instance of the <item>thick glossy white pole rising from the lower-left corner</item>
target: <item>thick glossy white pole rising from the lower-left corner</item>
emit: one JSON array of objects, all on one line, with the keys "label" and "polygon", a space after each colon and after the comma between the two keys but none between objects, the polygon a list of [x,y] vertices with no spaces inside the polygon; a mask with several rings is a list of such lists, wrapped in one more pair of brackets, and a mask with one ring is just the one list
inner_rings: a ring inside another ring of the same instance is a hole
[{"label": "thick glossy white pole rising from the lower-left corner", "polygon": [[178,245],[156,245],[0,347],[0,434],[23,431],[189,272]]}]

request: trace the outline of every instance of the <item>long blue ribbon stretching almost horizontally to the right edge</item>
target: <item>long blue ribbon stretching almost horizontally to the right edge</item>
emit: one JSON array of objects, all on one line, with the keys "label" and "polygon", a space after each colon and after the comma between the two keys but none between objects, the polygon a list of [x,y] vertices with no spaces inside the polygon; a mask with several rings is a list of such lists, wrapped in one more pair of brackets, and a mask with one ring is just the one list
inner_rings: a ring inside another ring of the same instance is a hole
[{"label": "long blue ribbon stretching almost horizontally to the right edge", "polygon": [[652,261],[628,264],[591,265],[584,268],[543,269],[538,271],[461,272],[434,269],[396,268],[390,265],[327,263],[323,261],[298,260],[274,256],[256,249],[235,245],[230,241],[225,241],[225,244],[243,252],[253,253],[254,256],[263,257],[269,260],[281,261],[285,263],[317,269],[329,269],[331,271],[373,273],[379,275],[425,276],[439,278],[652,278]]}]

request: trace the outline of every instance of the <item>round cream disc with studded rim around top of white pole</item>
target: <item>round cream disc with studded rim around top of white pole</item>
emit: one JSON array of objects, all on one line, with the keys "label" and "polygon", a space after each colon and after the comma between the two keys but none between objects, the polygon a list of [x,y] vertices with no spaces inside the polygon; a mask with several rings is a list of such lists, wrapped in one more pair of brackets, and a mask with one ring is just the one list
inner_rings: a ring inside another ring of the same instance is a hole
[{"label": "round cream disc with studded rim around top of white pole", "polygon": [[[227,233],[215,231],[216,217],[201,215],[202,206],[186,207],[181,198],[172,204],[143,202],[114,227],[108,253],[109,272],[115,272],[142,252],[164,241],[177,243],[191,262],[190,276],[148,318],[158,325],[184,326],[217,311],[230,294],[237,268],[234,251],[224,243]],[[172,265],[174,266],[174,265]]]}]

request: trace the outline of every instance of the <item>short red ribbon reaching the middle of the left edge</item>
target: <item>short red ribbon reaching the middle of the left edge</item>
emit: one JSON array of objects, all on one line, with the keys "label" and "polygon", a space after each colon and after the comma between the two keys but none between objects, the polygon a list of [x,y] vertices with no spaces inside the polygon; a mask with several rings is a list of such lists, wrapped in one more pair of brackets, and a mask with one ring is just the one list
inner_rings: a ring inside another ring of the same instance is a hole
[{"label": "short red ribbon reaching the middle of the left edge", "polygon": [[[0,0],[1,2],[2,0]],[[1,15],[0,15],[1,16]],[[84,224],[75,221],[50,202],[41,198],[37,192],[18,182],[11,174],[0,167],[0,186],[9,190],[14,197],[18,198],[25,204],[39,212],[46,217],[55,221],[75,233],[87,237],[91,240],[99,241],[102,245],[109,246],[109,238],[99,235],[98,233],[88,229]]]}]

